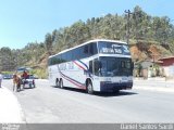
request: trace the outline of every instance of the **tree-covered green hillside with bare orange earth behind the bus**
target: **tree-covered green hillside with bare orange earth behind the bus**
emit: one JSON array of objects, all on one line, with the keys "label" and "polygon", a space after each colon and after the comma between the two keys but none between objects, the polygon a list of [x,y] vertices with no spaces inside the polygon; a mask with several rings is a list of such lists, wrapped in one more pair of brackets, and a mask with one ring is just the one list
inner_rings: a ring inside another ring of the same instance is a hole
[{"label": "tree-covered green hillside with bare orange earth behind the bus", "polygon": [[[174,25],[167,16],[151,16],[141,8],[135,6],[128,25],[129,46],[135,62],[152,58],[154,54],[159,57],[174,54]],[[126,41],[127,29],[127,14],[108,14],[86,22],[78,21],[69,27],[46,34],[42,42],[29,42],[17,50],[1,48],[0,70],[29,66],[35,68],[33,73],[46,77],[49,55],[96,38]]]}]

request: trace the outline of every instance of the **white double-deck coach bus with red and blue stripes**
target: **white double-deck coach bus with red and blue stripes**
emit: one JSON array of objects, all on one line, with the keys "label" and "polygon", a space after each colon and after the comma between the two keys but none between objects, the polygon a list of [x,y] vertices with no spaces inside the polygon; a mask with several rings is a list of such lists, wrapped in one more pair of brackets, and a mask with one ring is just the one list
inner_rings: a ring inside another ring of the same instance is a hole
[{"label": "white double-deck coach bus with red and blue stripes", "polygon": [[51,86],[84,89],[88,93],[133,87],[133,62],[127,43],[91,40],[48,60]]}]

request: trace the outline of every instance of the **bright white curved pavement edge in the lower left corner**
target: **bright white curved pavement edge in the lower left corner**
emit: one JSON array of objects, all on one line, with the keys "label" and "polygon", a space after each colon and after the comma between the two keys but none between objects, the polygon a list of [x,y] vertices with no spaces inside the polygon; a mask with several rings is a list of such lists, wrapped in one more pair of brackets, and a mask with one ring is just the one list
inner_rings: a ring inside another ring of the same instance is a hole
[{"label": "bright white curved pavement edge in the lower left corner", "polygon": [[24,123],[24,113],[16,96],[7,88],[0,88],[0,122]]}]

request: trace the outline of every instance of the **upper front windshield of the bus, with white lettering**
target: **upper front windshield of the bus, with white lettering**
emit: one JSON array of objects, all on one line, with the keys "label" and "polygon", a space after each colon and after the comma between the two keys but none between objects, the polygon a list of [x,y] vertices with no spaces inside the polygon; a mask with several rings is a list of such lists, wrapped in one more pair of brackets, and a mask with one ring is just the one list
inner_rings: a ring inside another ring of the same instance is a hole
[{"label": "upper front windshield of the bus, with white lettering", "polygon": [[102,54],[123,54],[130,55],[127,44],[99,41],[98,43],[99,53]]}]

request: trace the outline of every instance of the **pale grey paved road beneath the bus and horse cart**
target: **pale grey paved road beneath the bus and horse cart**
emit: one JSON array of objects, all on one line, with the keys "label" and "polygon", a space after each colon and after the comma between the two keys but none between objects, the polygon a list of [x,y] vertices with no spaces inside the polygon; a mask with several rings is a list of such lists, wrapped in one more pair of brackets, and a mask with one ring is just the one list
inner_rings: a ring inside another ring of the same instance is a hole
[{"label": "pale grey paved road beneath the bus and horse cart", "polygon": [[[140,87],[146,83],[137,83]],[[154,82],[152,82],[154,83]],[[3,86],[12,90],[12,81]],[[14,92],[26,122],[173,122],[174,93],[133,89],[119,94],[89,95],[83,91],[50,87]],[[150,86],[150,84],[149,84]],[[160,86],[160,84],[159,84]]]}]

